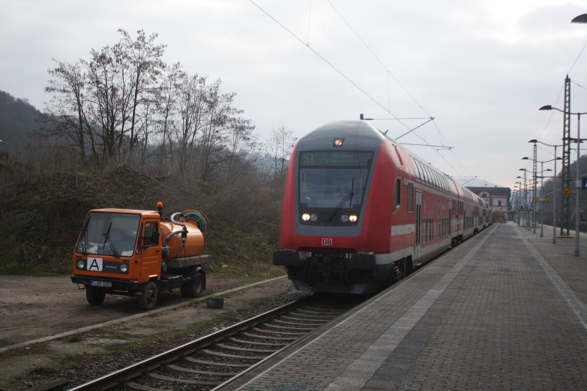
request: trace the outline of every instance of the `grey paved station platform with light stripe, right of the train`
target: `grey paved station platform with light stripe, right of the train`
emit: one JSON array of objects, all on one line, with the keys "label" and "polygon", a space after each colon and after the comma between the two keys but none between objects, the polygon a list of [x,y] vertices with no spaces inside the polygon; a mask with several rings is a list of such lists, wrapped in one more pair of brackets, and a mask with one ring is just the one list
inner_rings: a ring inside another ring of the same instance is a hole
[{"label": "grey paved station platform with light stripe, right of the train", "polygon": [[587,239],[493,225],[222,390],[587,390]]}]

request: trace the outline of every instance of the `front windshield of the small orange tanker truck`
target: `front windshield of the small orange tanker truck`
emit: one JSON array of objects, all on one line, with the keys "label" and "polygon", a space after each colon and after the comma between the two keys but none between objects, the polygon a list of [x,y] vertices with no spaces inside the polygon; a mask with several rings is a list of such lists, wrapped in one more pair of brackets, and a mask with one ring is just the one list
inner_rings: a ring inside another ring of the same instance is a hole
[{"label": "front windshield of the small orange tanker truck", "polygon": [[104,256],[133,255],[140,215],[90,212],[77,242],[76,252]]}]

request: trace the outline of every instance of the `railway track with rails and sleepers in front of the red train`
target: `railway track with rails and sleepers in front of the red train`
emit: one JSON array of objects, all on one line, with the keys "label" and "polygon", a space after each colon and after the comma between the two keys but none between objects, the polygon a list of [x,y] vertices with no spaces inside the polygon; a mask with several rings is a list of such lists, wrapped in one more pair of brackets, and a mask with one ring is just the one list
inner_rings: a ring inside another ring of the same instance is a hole
[{"label": "railway track with rails and sleepers in front of the red train", "polygon": [[[347,299],[345,297],[345,299]],[[359,304],[314,294],[70,391],[212,390]]]}]

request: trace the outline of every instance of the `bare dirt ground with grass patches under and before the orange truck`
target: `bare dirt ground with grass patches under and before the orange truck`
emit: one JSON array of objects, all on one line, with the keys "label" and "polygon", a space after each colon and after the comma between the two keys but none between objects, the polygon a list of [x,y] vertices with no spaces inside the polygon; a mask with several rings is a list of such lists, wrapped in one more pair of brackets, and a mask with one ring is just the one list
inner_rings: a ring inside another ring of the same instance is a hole
[{"label": "bare dirt ground with grass patches under and before the orange truck", "polygon": [[[189,331],[294,290],[284,276],[231,291],[243,285],[208,278],[199,298],[160,293],[154,310],[140,311],[136,299],[124,296],[107,295],[91,306],[69,277],[0,276],[0,389],[35,385],[39,373],[68,368],[78,356]],[[207,308],[205,297],[218,295],[224,308]]]}]

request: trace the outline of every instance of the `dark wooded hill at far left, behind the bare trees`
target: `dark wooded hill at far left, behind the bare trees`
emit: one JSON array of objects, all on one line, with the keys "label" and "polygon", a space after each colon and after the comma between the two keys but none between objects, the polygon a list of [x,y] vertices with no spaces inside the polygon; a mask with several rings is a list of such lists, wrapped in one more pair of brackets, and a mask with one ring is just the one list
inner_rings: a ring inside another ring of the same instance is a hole
[{"label": "dark wooded hill at far left, behind the bare trees", "polygon": [[[0,151],[14,154],[28,144],[28,133],[38,130],[41,112],[26,101],[0,91]],[[8,144],[5,144],[8,143]]]}]

